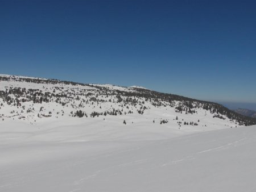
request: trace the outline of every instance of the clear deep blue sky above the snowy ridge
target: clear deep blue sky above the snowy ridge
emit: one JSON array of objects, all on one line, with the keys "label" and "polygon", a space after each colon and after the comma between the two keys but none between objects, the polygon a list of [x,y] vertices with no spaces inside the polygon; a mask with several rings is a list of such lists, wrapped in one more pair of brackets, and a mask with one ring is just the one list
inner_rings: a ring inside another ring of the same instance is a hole
[{"label": "clear deep blue sky above the snowy ridge", "polygon": [[255,1],[0,1],[0,73],[256,103]]}]

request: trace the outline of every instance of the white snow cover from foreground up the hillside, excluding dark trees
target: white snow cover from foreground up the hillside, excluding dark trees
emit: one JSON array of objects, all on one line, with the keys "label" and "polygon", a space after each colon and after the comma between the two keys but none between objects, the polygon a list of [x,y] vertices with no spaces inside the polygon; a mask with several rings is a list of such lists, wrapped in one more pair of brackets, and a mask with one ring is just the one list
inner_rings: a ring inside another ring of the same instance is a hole
[{"label": "white snow cover from foreground up the hillside, excluding dark trees", "polygon": [[[0,91],[26,88],[21,98],[9,94],[10,105],[0,98],[0,191],[256,190],[256,126],[213,118],[217,114],[200,107],[193,114],[177,112],[180,101],[154,106],[133,97],[132,105],[112,94],[139,92],[137,87],[40,84],[22,78],[0,81]],[[35,93],[39,99],[40,92],[68,97],[42,103],[28,99]],[[28,100],[17,107],[19,102],[11,100],[16,98]],[[122,114],[90,117],[113,108]],[[76,110],[88,117],[74,117]],[[163,119],[168,123],[160,124]]]}]

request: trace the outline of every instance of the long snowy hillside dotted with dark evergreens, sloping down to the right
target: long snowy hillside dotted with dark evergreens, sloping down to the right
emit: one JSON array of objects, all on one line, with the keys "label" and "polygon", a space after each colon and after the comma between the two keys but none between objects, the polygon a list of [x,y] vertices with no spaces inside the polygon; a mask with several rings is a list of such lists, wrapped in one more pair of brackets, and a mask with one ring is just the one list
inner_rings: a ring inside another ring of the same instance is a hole
[{"label": "long snowy hillside dotted with dark evergreens, sloping down to the right", "polygon": [[[112,118],[123,124],[142,119],[143,126],[166,124],[204,130],[256,124],[250,118],[213,102],[159,93],[144,87],[81,84],[0,74],[0,119],[35,123],[44,118]],[[130,119],[130,122],[127,120]],[[195,127],[196,126],[196,127]]]}]

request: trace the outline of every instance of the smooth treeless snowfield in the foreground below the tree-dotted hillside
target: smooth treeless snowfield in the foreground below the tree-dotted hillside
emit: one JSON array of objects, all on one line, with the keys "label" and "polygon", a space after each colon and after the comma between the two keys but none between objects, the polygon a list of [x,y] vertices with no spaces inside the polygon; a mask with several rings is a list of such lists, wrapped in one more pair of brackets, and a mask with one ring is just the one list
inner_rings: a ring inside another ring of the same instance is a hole
[{"label": "smooth treeless snowfield in the foreground below the tree-dotted hillside", "polygon": [[256,190],[256,126],[195,133],[48,119],[0,131],[0,191]]}]

